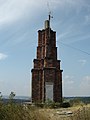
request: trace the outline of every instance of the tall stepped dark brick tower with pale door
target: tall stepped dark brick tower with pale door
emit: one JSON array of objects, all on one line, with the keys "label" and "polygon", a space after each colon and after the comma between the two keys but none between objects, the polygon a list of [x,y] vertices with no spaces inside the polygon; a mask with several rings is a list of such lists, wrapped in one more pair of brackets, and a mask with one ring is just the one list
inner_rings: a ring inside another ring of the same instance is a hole
[{"label": "tall stepped dark brick tower with pale door", "polygon": [[63,70],[57,60],[56,32],[50,28],[50,15],[45,28],[38,31],[37,57],[33,62],[32,102],[62,101]]}]

